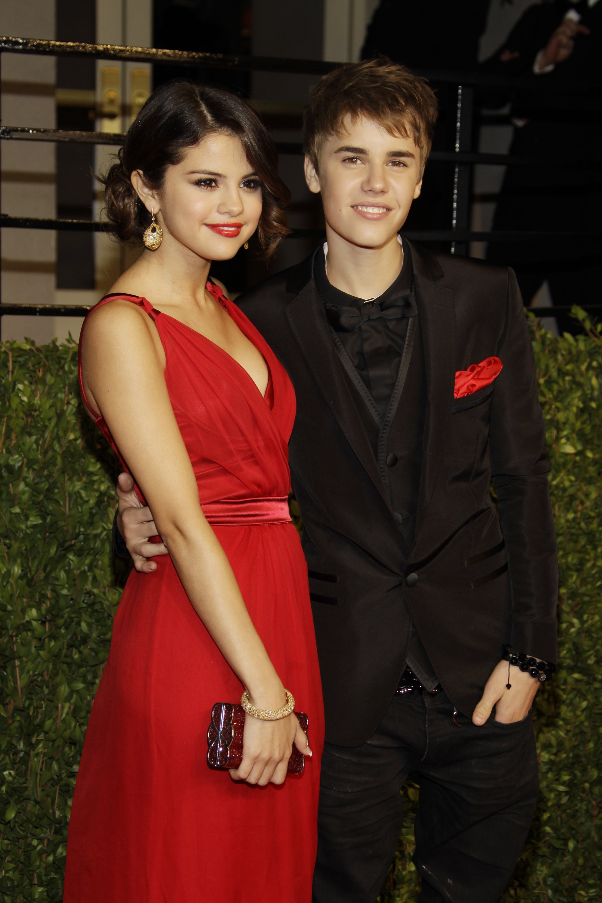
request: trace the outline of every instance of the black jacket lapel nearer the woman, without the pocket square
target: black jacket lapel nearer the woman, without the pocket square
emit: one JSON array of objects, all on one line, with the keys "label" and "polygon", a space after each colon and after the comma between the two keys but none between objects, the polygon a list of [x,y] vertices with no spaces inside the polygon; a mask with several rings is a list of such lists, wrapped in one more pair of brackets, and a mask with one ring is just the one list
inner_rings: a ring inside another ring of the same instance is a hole
[{"label": "black jacket lapel nearer the woman, without the pocket square", "polygon": [[362,467],[379,490],[392,515],[390,500],[387,498],[387,492],[362,419],[343,376],[313,278],[310,278],[296,298],[287,304],[286,312],[299,349],[306,359],[306,364],[311,370],[334,420],[351,445]]}]

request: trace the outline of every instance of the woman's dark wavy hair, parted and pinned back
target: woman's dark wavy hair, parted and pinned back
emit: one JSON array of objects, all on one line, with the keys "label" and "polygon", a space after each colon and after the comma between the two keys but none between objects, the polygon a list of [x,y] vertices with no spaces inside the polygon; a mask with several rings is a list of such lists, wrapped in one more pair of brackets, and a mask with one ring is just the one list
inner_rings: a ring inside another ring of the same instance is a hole
[{"label": "woman's dark wavy hair, parted and pinned back", "polygon": [[105,186],[108,221],[118,238],[140,238],[151,222],[130,181],[132,172],[140,170],[149,188],[160,189],[167,167],[180,163],[186,148],[216,132],[240,139],[249,166],[261,180],[259,243],[265,256],[274,253],[289,231],[284,211],[290,201],[290,191],[278,175],[276,146],[243,100],[189,81],[169,82],[151,94],[129,126],[118,163],[98,177]]}]

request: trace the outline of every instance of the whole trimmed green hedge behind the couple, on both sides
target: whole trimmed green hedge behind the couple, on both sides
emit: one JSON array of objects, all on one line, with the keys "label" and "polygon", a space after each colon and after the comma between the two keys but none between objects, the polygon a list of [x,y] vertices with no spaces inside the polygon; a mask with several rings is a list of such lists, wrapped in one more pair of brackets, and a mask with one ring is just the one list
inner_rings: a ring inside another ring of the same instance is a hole
[{"label": "whole trimmed green hedge behind the couple, on both sides", "polygon": [[[597,899],[602,886],[602,340],[587,325],[588,335],[555,339],[533,321],[560,546],[561,652],[558,678],[536,706],[540,805],[505,895],[523,903]],[[0,364],[0,903],[59,901],[83,734],[124,578],[110,557],[116,465],[82,413],[73,344],[8,342]],[[408,817],[381,903],[418,895],[410,860],[418,787],[404,794]]]}]

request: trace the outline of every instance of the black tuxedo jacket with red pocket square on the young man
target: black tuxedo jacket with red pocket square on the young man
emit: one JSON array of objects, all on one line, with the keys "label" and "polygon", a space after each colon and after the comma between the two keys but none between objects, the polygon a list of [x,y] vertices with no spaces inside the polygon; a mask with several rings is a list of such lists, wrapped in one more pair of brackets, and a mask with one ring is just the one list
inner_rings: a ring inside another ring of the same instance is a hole
[{"label": "black tuxedo jacket with red pocket square on the young man", "polygon": [[[239,299],[295,386],[292,487],[305,527],[326,740],[343,746],[368,740],[390,704],[409,642],[406,606],[444,690],[466,715],[503,643],[556,661],[548,459],[516,280],[507,269],[404,247],[427,377],[408,563],[362,422],[364,402],[328,331],[313,256]],[[492,355],[503,362],[494,384],[455,399],[456,370]],[[403,416],[402,394],[396,417]]]}]

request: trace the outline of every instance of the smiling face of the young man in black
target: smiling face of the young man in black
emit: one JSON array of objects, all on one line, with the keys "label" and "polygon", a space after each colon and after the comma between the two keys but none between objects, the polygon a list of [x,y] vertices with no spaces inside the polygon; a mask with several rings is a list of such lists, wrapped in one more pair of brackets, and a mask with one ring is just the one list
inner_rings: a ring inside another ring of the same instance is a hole
[{"label": "smiling face of the young man in black", "polygon": [[310,191],[321,192],[326,224],[359,247],[383,247],[403,226],[422,186],[420,149],[412,137],[390,135],[372,119],[347,116],[331,135],[319,172],[306,157]]}]

